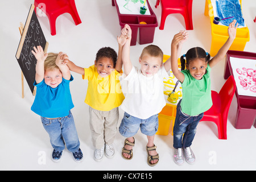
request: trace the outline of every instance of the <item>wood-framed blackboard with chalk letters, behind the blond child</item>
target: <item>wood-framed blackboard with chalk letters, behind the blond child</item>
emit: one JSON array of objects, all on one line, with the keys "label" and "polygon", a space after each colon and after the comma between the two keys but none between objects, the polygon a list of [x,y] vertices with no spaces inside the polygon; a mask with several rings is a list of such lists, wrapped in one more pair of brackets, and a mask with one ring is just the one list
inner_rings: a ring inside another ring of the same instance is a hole
[{"label": "wood-framed blackboard with chalk letters, behind the blond child", "polygon": [[18,60],[19,66],[22,69],[24,77],[26,78],[32,93],[34,91],[33,84],[35,81],[35,66],[37,61],[31,52],[31,50],[34,50],[34,46],[42,46],[44,52],[46,52],[48,42],[46,42],[42,28],[38,18],[36,17],[34,5],[31,5],[16,52],[16,59]]}]

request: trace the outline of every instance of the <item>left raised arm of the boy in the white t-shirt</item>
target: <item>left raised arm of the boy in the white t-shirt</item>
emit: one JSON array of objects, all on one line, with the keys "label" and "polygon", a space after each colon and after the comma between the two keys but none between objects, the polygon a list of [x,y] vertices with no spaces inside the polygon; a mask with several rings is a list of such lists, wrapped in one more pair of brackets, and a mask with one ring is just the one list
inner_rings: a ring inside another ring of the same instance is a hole
[{"label": "left raised arm of the boy in the white t-shirt", "polygon": [[122,29],[122,34],[126,35],[126,42],[123,45],[122,51],[122,61],[123,61],[123,69],[125,75],[129,75],[133,65],[131,64],[130,60],[130,44],[131,44],[131,28],[128,24],[125,24],[125,27]]}]

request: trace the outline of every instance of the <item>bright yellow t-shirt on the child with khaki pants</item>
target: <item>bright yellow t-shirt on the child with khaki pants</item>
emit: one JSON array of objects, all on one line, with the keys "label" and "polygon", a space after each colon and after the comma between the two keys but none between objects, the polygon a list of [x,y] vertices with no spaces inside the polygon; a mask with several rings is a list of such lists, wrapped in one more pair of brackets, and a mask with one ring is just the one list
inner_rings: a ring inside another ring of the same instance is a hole
[{"label": "bright yellow t-shirt on the child with khaki pants", "polygon": [[119,76],[121,74],[115,69],[109,76],[102,78],[98,75],[97,68],[94,65],[84,68],[82,79],[88,80],[88,89],[84,102],[93,109],[101,111],[109,111],[120,106],[125,96],[122,93]]}]

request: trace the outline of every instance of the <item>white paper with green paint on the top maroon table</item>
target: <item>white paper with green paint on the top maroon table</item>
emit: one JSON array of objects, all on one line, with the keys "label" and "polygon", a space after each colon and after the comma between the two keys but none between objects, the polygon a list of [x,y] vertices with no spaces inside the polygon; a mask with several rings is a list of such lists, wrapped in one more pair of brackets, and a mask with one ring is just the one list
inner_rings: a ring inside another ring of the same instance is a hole
[{"label": "white paper with green paint on the top maroon table", "polygon": [[[120,14],[133,14],[133,15],[141,15],[141,13],[139,13],[141,7],[143,7],[144,5],[144,1],[143,3],[140,0],[116,0],[117,1],[117,5],[119,8],[119,12]],[[148,6],[147,6],[147,2],[145,3],[145,7],[147,8],[147,11],[144,15],[150,15],[150,11],[148,10]]]}]

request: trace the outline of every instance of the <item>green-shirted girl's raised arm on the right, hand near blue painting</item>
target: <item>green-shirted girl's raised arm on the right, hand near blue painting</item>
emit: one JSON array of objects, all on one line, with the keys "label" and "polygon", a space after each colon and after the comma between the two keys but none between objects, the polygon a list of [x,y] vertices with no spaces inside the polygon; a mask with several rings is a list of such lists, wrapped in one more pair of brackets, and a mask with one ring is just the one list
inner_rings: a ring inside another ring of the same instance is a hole
[{"label": "green-shirted girl's raised arm on the right, hand near blue painting", "polygon": [[216,65],[220,60],[222,60],[225,57],[226,52],[228,52],[230,46],[232,45],[234,39],[236,38],[237,26],[238,26],[238,23],[236,25],[236,22],[237,20],[234,19],[233,22],[229,24],[229,28],[228,28],[229,38],[228,40],[226,40],[225,44],[220,48],[220,50],[218,50],[217,55],[214,56],[209,61],[210,68],[212,68],[214,65]]}]

